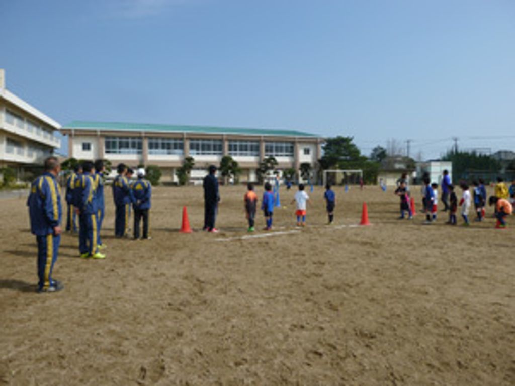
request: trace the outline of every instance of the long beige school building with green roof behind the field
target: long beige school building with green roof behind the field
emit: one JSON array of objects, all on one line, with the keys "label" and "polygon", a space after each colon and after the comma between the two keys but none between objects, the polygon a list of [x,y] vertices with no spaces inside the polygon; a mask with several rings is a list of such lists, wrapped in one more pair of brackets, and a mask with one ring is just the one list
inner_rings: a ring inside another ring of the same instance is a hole
[{"label": "long beige school building with green roof behind the field", "polygon": [[68,156],[79,160],[105,159],[113,166],[156,165],[163,182],[177,182],[176,169],[191,156],[195,167],[191,180],[199,182],[209,165],[219,165],[222,156],[238,162],[240,182],[255,182],[260,162],[273,156],[277,169],[302,163],[317,167],[323,138],[294,130],[230,127],[174,126],[123,122],[73,121],[62,128],[68,135]]}]

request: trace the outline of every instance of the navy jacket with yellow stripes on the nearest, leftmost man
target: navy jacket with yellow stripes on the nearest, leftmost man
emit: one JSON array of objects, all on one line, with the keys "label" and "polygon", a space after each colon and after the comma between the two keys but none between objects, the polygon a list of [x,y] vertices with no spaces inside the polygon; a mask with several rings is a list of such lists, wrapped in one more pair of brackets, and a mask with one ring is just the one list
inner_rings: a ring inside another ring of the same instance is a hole
[{"label": "navy jacket with yellow stripes on the nearest, leftmost man", "polygon": [[59,187],[53,174],[44,173],[32,182],[27,205],[30,232],[36,236],[54,233],[54,227],[61,223],[62,207]]}]

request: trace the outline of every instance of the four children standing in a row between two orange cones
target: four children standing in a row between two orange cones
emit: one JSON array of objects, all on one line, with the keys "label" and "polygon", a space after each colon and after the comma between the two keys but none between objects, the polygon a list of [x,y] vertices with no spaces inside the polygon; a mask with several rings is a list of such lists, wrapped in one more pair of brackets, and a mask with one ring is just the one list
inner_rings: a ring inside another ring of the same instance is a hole
[{"label": "four children standing in a row between two orange cones", "polygon": [[[334,191],[331,189],[331,185],[325,186],[324,199],[326,203],[326,209],[329,218],[329,224],[331,224],[334,220],[334,207],[336,205],[336,195]],[[296,192],[291,203],[296,204],[295,215],[297,217],[297,226],[305,226],[306,225],[306,210],[307,203],[310,200],[310,196],[304,190],[304,185],[299,184],[299,190]],[[263,215],[265,217],[266,225],[264,230],[270,231],[272,229],[272,221],[273,221],[273,208],[275,206],[275,195],[272,191],[272,185],[270,183],[265,183],[265,191],[263,192],[263,199],[261,203],[261,209],[263,210]],[[245,213],[247,216],[247,220],[249,222],[248,232],[254,232],[254,224],[255,224],[255,215],[256,210],[258,208],[258,196],[254,192],[254,185],[249,183],[247,184],[247,192],[244,196],[244,206]]]}]

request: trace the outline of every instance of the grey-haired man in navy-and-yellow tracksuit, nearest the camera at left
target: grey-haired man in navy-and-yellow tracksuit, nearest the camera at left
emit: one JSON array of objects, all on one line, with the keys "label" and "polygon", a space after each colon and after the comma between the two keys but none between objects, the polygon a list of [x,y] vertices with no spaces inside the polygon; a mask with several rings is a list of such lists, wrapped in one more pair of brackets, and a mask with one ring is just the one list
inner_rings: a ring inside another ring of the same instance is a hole
[{"label": "grey-haired man in navy-and-yellow tracksuit, nearest the camera at left", "polygon": [[32,182],[27,200],[30,231],[38,242],[38,291],[59,291],[62,284],[52,278],[61,242],[61,195],[57,176],[61,165],[57,157],[48,157],[45,172]]}]

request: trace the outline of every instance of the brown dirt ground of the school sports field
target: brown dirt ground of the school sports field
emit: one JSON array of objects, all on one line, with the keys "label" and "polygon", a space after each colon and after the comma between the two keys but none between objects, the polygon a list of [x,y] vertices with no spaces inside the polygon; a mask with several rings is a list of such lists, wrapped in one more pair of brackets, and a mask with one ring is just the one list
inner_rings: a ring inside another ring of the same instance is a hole
[{"label": "brown dirt ground of the school sports field", "polygon": [[[114,239],[108,198],[107,259],[64,235],[47,294],[25,199],[0,200],[0,384],[515,384],[515,218],[422,225],[391,189],[336,190],[335,224],[319,187],[299,230],[281,190],[264,237],[243,187],[221,188],[219,234],[199,231],[201,188],[156,188],[150,241]],[[363,201],[373,225],[349,226]]]}]

